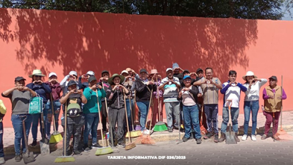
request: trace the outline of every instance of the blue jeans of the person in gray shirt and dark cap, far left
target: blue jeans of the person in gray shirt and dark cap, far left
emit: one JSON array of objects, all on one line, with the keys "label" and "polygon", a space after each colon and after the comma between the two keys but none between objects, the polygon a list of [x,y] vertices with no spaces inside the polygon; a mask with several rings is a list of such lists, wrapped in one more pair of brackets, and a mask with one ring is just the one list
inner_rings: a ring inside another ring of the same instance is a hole
[{"label": "blue jeans of the person in gray shirt and dark cap, far left", "polygon": [[[22,144],[22,152],[26,152],[24,136],[23,136],[23,126],[22,121],[25,119],[25,115],[11,115],[11,122],[14,128],[14,150],[15,155],[21,155],[21,144]],[[29,130],[32,124],[32,115],[26,115],[25,124],[25,132],[26,138],[28,138]]]}]

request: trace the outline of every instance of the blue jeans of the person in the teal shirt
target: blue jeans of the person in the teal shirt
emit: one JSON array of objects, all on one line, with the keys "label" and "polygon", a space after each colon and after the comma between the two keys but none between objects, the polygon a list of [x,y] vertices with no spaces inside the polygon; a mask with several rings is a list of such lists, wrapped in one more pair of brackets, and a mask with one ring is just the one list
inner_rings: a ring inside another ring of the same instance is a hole
[{"label": "blue jeans of the person in the teal shirt", "polygon": [[[50,136],[50,132],[51,132],[51,123],[53,121],[52,118],[52,105],[50,103],[50,101],[48,101],[47,106],[49,106],[49,109],[47,110],[47,120],[45,121],[46,123],[46,134],[47,136]],[[59,100],[55,100],[53,102],[53,108],[54,108],[54,119],[55,119],[55,124],[56,124],[56,130],[58,131],[58,126],[59,126],[59,113],[60,113],[60,108],[61,108],[61,103],[59,102]]]}]

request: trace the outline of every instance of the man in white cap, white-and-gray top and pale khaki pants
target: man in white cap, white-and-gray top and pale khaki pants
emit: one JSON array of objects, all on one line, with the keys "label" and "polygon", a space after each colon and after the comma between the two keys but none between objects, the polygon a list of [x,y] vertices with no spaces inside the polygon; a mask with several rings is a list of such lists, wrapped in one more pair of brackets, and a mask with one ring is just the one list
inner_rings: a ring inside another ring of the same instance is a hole
[{"label": "man in white cap, white-and-gray top and pale khaki pants", "polygon": [[177,100],[180,82],[173,76],[173,69],[167,68],[167,77],[161,81],[159,90],[164,89],[164,103],[167,115],[168,132],[173,132],[173,116],[175,117],[175,129],[179,129],[179,101]]}]

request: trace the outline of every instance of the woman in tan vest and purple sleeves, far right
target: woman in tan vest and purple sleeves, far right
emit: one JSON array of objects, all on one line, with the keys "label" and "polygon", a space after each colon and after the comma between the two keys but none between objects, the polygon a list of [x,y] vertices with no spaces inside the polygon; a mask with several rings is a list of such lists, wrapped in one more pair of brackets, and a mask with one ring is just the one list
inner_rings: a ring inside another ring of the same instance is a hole
[{"label": "woman in tan vest and purple sleeves, far right", "polygon": [[264,99],[264,115],[266,116],[265,123],[265,132],[261,139],[266,139],[268,137],[268,133],[273,122],[273,139],[280,140],[280,138],[276,135],[278,131],[279,125],[279,117],[281,114],[282,108],[282,100],[287,99],[287,95],[285,93],[284,88],[277,85],[278,79],[276,76],[272,76],[269,78],[269,86],[266,86],[263,90],[263,99]]}]

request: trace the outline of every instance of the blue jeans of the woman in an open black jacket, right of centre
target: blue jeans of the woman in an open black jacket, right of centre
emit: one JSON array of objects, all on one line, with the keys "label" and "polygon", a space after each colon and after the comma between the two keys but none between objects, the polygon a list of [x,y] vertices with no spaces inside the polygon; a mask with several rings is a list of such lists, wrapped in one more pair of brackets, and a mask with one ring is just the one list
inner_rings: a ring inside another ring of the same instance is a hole
[{"label": "blue jeans of the woman in an open black jacket, right of centre", "polygon": [[[199,126],[199,110],[197,105],[184,106],[182,107],[184,114],[184,127],[185,127],[185,137],[190,138],[191,135],[191,122],[193,124],[193,129],[195,131],[195,138],[200,139],[200,126]],[[191,120],[190,120],[191,119]]]}]

